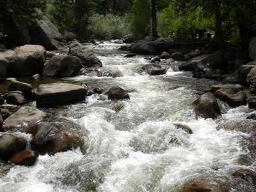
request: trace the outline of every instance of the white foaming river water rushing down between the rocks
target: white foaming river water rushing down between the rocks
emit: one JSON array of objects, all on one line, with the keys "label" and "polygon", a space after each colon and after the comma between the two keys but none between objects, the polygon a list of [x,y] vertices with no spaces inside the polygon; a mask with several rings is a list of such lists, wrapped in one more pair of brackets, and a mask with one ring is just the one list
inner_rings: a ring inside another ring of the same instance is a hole
[{"label": "white foaming river water rushing down between the rocks", "polygon": [[[245,134],[230,131],[245,118],[248,106],[230,109],[220,102],[221,118],[196,119],[191,103],[200,96],[200,90],[217,82],[179,72],[175,65],[180,63],[172,64],[166,75],[148,76],[141,70],[148,61],[143,56],[124,58],[127,52],[116,51],[118,46],[113,42],[88,45],[104,68],[118,72],[120,77],[77,76],[61,81],[86,82],[104,92],[118,85],[131,90],[131,99],[114,102],[106,95],[92,95],[86,102],[42,109],[51,115],[49,121],[67,123],[86,143],[55,156],[39,156],[31,167],[14,166],[0,175],[1,191],[174,192],[198,175],[230,179],[239,168],[255,170],[243,145]],[[22,80],[34,88],[50,81]],[[118,105],[122,109],[113,110]],[[35,102],[31,106],[36,106]],[[188,125],[193,134],[176,129],[176,123]],[[15,134],[31,140],[29,134]]]}]

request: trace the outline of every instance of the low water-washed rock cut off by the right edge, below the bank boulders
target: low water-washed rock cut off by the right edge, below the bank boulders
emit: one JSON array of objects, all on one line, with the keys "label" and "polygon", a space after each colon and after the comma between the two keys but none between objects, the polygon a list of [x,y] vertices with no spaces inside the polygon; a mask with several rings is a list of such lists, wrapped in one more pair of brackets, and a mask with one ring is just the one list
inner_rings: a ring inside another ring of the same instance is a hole
[{"label": "low water-washed rock cut off by the right edge, below the bank boulders", "polygon": [[241,131],[256,136],[256,122],[253,120],[242,120],[232,127],[234,131]]}]

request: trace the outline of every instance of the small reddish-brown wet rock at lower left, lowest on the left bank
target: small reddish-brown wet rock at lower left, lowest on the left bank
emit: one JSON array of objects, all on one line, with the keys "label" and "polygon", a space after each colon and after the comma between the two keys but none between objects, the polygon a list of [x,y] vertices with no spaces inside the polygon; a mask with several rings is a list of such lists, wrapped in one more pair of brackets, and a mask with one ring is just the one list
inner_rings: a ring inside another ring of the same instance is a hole
[{"label": "small reddish-brown wet rock at lower left, lowest on the left bank", "polygon": [[18,165],[32,166],[35,164],[38,156],[38,152],[34,150],[24,150],[19,154],[14,154],[10,157],[9,161]]}]

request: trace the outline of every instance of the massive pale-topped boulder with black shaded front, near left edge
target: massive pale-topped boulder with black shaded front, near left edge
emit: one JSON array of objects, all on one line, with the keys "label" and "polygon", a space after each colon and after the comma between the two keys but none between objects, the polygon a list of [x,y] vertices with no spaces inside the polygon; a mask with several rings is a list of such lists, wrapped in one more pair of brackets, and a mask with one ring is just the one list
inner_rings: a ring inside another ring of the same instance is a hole
[{"label": "massive pale-topped boulder with black shaded front, near left edge", "polygon": [[15,52],[5,51],[3,56],[9,61],[7,76],[31,76],[42,72],[45,49],[41,45],[24,45],[17,47]]}]

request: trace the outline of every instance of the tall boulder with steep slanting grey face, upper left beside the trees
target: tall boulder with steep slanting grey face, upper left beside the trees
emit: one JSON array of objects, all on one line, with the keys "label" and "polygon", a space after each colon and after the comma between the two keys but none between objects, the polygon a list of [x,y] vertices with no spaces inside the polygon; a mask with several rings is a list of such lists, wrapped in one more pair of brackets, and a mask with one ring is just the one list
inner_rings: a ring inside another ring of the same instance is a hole
[{"label": "tall boulder with steep slanting grey face, upper left beside the trees", "polygon": [[29,32],[33,42],[43,45],[47,50],[56,50],[65,47],[58,28],[52,24],[47,17],[42,17],[42,20],[36,20],[36,24],[31,26]]}]

